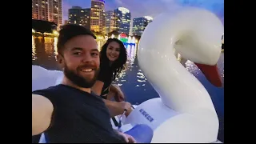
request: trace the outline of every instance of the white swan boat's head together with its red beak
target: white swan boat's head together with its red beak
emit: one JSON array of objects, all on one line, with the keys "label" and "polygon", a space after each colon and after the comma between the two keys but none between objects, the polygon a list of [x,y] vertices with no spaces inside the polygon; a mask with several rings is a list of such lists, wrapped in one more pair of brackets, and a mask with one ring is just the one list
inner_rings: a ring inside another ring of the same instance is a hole
[{"label": "white swan boat's head together with its red beak", "polygon": [[[191,22],[190,26],[186,25],[187,28],[180,31],[175,38],[174,49],[183,58],[194,62],[209,82],[221,87],[222,80],[217,62],[222,50],[222,35],[224,34],[222,22],[206,10],[190,8],[183,10],[181,15],[185,17],[185,14],[189,12],[187,17],[194,18],[197,22]],[[189,18],[182,19],[181,23],[187,22],[187,19]]]}]

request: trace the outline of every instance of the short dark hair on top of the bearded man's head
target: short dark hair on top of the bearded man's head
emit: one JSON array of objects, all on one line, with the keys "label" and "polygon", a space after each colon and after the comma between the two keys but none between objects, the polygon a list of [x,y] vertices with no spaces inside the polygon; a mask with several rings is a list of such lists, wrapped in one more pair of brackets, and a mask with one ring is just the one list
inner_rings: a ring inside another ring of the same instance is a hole
[{"label": "short dark hair on top of the bearded man's head", "polygon": [[64,45],[67,41],[78,35],[90,35],[94,37],[94,39],[96,39],[94,33],[86,29],[86,27],[74,24],[67,24],[65,26],[62,26],[62,29],[59,31],[57,43],[58,54],[62,54]]}]

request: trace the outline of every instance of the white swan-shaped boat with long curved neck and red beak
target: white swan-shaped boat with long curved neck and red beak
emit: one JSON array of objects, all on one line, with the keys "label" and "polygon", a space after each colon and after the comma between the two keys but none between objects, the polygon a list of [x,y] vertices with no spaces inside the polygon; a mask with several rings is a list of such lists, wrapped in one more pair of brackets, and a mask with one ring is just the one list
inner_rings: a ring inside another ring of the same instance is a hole
[{"label": "white swan-shaped boat with long curved neck and red beak", "polygon": [[[223,31],[214,14],[193,7],[154,18],[139,42],[138,64],[160,98],[135,106],[122,119],[121,130],[146,124],[154,130],[152,143],[219,142],[218,116],[210,95],[175,54],[196,63],[210,82],[222,86],[216,64]],[[62,72],[32,66],[32,79],[32,90],[38,90],[58,84]]]}]

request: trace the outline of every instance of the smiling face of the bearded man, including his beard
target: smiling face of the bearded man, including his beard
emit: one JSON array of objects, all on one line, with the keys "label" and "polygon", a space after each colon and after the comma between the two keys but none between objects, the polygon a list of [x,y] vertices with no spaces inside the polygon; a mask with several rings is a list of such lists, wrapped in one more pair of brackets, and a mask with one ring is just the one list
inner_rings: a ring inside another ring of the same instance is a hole
[{"label": "smiling face of the bearded man, including his beard", "polygon": [[92,36],[80,35],[71,38],[64,45],[62,56],[58,57],[58,62],[64,69],[66,78],[83,88],[94,85],[100,61],[97,43]]}]

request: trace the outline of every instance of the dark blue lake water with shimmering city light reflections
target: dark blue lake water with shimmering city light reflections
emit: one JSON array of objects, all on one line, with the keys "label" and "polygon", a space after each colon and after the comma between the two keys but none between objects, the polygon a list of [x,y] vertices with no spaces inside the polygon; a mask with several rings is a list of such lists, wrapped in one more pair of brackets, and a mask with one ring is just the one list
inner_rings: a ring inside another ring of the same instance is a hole
[{"label": "dark blue lake water with shimmering city light reflections", "polygon": [[[103,42],[98,42],[98,48],[102,46]],[[158,98],[158,93],[150,85],[144,77],[142,70],[138,66],[136,58],[137,46],[126,46],[128,54],[127,69],[124,71],[120,78],[115,82],[121,87],[126,95],[126,101],[132,104],[140,104],[150,98]],[[32,36],[32,63],[45,67],[48,70],[60,70],[56,62],[57,54],[57,38],[42,38]],[[203,86],[208,90],[212,101],[214,102],[217,111],[220,129],[218,139],[224,142],[224,88],[214,87],[206,80],[198,67],[193,62],[187,61],[186,69],[194,74]],[[222,74],[224,82],[224,53],[222,53],[219,61],[218,68]]]}]

